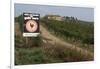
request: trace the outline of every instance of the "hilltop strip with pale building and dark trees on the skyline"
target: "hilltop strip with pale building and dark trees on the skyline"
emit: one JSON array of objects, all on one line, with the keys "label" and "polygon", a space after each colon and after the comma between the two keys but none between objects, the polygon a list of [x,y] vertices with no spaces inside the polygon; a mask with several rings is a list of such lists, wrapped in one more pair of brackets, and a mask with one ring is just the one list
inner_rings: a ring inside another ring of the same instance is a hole
[{"label": "hilltop strip with pale building and dark trees on the skyline", "polygon": [[60,15],[45,15],[43,18],[48,20],[57,20],[57,21],[65,21],[69,23],[94,23],[89,21],[79,20],[76,17],[69,17],[69,16],[60,16]]}]

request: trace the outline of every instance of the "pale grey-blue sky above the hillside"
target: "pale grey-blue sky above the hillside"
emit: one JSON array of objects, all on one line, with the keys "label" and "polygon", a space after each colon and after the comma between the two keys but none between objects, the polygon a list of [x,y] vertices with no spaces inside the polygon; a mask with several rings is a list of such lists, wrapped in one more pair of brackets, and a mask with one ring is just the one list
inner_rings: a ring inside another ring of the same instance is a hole
[{"label": "pale grey-blue sky above the hillside", "polygon": [[94,8],[54,6],[54,5],[36,5],[36,4],[18,4],[14,5],[14,15],[19,16],[23,12],[39,13],[40,16],[48,14],[60,16],[73,16],[79,20],[94,21]]}]

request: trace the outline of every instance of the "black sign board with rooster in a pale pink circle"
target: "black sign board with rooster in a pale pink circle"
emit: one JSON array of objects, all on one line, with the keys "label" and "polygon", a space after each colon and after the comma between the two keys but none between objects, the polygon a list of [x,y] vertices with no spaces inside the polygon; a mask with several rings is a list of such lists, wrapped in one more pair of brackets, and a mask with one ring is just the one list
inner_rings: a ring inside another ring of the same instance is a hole
[{"label": "black sign board with rooster in a pale pink circle", "polygon": [[39,20],[40,14],[38,13],[23,13],[23,36],[24,37],[37,37],[39,35]]}]

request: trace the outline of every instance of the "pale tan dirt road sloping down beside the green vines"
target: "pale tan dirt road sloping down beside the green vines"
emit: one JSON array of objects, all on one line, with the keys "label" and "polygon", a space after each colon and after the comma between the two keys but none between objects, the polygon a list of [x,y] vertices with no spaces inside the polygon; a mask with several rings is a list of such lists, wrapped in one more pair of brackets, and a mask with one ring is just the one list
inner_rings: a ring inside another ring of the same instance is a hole
[{"label": "pale tan dirt road sloping down beside the green vines", "polygon": [[61,39],[59,39],[58,37],[52,35],[45,27],[43,27],[42,25],[40,25],[40,30],[41,30],[41,36],[43,37],[43,42],[47,43],[51,43],[51,44],[60,44],[60,45],[63,45],[63,46],[66,46],[67,48],[71,48],[71,49],[76,49],[78,52],[82,52],[82,54],[84,55],[91,55],[93,56],[93,53],[88,51],[88,50],[85,50],[83,48],[80,48],[80,47],[77,47],[73,44],[70,44],[68,42],[65,42]]}]

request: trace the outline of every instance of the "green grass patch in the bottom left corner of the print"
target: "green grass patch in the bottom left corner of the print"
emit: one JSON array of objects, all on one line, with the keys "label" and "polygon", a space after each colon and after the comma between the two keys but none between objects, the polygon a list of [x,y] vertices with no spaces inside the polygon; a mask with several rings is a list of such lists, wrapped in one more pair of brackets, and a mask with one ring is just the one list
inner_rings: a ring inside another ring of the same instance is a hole
[{"label": "green grass patch in the bottom left corner of the print", "polygon": [[15,52],[16,65],[39,64],[44,62],[44,54],[40,48],[20,48]]}]

